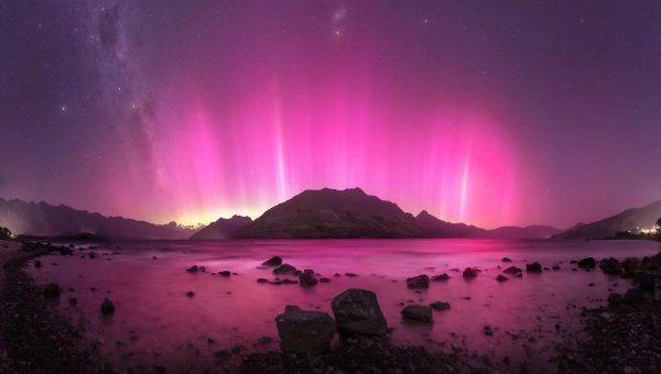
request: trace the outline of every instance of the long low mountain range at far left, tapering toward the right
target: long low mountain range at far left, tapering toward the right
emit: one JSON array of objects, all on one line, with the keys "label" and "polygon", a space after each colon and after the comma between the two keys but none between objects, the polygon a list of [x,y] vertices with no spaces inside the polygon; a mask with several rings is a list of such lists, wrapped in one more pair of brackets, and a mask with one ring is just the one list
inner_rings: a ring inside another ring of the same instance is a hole
[{"label": "long low mountain range at far left, tapering toward the right", "polygon": [[105,217],[67,206],[0,198],[0,227],[34,237],[93,235],[105,239],[187,239],[195,230],[175,222],[153,224],[121,217]]}]

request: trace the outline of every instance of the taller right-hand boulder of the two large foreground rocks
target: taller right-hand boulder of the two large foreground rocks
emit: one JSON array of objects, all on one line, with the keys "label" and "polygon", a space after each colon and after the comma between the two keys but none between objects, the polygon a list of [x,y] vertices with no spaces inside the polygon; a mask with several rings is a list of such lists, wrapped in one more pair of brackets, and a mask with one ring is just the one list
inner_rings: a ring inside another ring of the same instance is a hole
[{"label": "taller right-hand boulder of the two large foreground rocks", "polygon": [[343,336],[384,336],[388,323],[377,295],[370,290],[350,288],[333,299],[337,331]]}]

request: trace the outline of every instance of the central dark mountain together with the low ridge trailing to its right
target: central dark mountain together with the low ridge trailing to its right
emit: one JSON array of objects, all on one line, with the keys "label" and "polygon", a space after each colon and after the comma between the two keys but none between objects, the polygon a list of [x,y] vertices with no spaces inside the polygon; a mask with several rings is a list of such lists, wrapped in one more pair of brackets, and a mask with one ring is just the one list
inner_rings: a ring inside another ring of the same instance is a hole
[{"label": "central dark mountain together with the low ridge trailing to its right", "polygon": [[303,191],[239,230],[237,238],[511,238],[548,239],[551,227],[485,230],[440,220],[426,211],[416,217],[360,188]]}]

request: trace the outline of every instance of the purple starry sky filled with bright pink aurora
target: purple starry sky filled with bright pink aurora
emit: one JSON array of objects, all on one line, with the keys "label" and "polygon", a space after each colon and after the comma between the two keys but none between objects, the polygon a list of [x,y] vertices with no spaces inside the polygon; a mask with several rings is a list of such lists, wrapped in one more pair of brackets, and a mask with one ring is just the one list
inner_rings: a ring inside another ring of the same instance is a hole
[{"label": "purple starry sky filled with bright pink aurora", "polygon": [[0,197],[565,228],[661,198],[660,62],[659,1],[3,0]]}]

